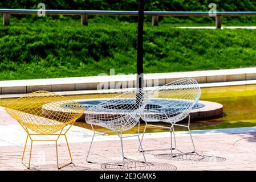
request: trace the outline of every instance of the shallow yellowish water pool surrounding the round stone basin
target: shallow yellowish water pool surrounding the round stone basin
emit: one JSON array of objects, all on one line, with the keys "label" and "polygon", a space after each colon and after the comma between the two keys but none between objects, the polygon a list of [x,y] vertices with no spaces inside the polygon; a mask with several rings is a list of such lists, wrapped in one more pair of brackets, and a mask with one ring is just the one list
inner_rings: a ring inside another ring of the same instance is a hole
[{"label": "shallow yellowish water pool surrounding the round stone basin", "polygon": [[[89,98],[112,98],[118,94],[90,94],[79,96],[67,96],[75,99]],[[0,106],[6,106],[13,99],[0,99]],[[220,118],[213,118],[207,121],[192,121],[191,129],[220,129],[227,127],[256,126],[256,85],[224,86],[217,88],[202,88],[200,100],[218,102],[224,105],[224,115]],[[86,122],[76,122],[76,126],[91,129]],[[162,126],[169,126],[168,123],[159,123]],[[95,127],[97,131],[105,131],[101,127]],[[144,129],[141,124],[140,131]],[[176,130],[181,130],[177,128]],[[136,133],[137,127],[125,133]],[[147,132],[168,131],[160,128],[148,127]]]}]

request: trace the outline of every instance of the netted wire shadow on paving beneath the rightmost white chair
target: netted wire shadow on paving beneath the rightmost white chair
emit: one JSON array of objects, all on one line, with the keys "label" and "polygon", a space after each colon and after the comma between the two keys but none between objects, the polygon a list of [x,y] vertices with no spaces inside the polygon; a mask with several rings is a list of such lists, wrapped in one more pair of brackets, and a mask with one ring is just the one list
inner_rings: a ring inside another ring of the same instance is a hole
[{"label": "netted wire shadow on paving beneath the rightmost white chair", "polygon": [[154,155],[157,159],[173,160],[173,161],[186,161],[186,162],[224,162],[226,158],[219,156],[210,156],[210,155],[200,155],[197,153],[194,154],[184,154],[176,157],[172,157],[170,154],[157,154]]}]

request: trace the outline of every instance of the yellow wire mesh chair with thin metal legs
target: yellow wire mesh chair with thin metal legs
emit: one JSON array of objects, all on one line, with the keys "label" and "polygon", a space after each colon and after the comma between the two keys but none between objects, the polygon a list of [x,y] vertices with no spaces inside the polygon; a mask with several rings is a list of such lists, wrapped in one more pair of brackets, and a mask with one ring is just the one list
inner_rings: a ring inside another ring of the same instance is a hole
[{"label": "yellow wire mesh chair with thin metal legs", "polygon": [[[72,162],[66,133],[70,130],[71,126],[74,125],[75,121],[83,115],[85,110],[86,109],[78,102],[47,91],[38,91],[26,94],[7,105],[7,113],[16,119],[27,133],[27,139],[22,155],[22,164],[24,164],[28,169],[30,168],[32,143],[34,141],[55,141],[58,169],[74,164]],[[68,126],[67,130],[63,131],[66,126]],[[35,139],[36,136],[43,137],[44,135],[51,136],[51,138],[54,139],[47,139],[46,137],[44,137],[45,139]],[[59,167],[57,144],[60,136],[64,136],[66,139],[68,153],[71,159],[70,163],[61,167]],[[23,158],[25,155],[27,140],[29,138],[31,140],[31,146],[29,165],[27,166],[25,162],[23,162]]]}]

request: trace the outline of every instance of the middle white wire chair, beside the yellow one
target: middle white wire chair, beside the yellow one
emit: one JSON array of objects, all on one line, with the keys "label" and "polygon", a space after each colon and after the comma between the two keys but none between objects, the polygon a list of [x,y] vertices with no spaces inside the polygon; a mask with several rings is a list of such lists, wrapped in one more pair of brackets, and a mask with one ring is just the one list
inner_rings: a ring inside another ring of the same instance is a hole
[{"label": "middle white wire chair, beside the yellow one", "polygon": [[[86,161],[88,163],[100,163],[88,161],[88,156],[90,155],[92,142],[94,141],[95,135],[114,132],[120,137],[121,140],[123,165],[119,164],[119,166],[124,166],[125,159],[128,158],[124,156],[123,138],[125,137],[123,136],[123,131],[132,129],[132,127],[137,125],[137,123],[140,125],[139,119],[148,101],[149,100],[147,95],[144,94],[144,91],[142,89],[136,89],[131,92],[121,94],[120,96],[112,98],[111,100],[102,102],[101,104],[90,107],[86,111],[86,122],[91,125],[92,130],[94,131],[94,135],[92,136],[92,141],[88,150]],[[93,125],[104,127],[110,131],[96,133]],[[138,134],[128,135],[126,137],[138,137],[140,147],[142,148],[139,134],[140,133],[138,130]],[[145,163],[146,159],[144,152],[143,158],[143,162]]]}]

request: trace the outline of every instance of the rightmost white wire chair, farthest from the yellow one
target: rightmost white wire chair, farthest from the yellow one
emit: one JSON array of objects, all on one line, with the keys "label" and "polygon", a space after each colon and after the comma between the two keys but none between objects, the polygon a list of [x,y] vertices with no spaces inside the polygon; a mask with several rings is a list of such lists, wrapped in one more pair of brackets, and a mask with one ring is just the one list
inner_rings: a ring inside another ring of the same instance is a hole
[{"label": "rightmost white wire chair, farthest from the yellow one", "polygon": [[[173,157],[184,154],[191,154],[196,152],[194,146],[193,138],[190,133],[190,111],[193,106],[197,104],[200,96],[201,90],[196,80],[193,78],[183,78],[181,80],[170,82],[164,86],[152,90],[148,93],[150,98],[150,103],[145,107],[145,110],[141,118],[145,121],[145,128],[141,142],[144,138],[147,126],[161,127],[170,129],[170,148],[162,148],[156,150],[171,150],[171,155]],[[177,124],[178,121],[188,118],[188,125]],[[167,126],[157,126],[148,123],[152,122],[166,122],[170,123],[170,127]],[[174,126],[182,126],[188,128],[190,138],[192,140],[193,149],[192,152],[181,152],[180,154],[173,154],[173,150],[176,148],[176,138],[174,133]],[[174,147],[172,140],[172,133],[174,137]],[[143,151],[139,147],[139,151]],[[144,150],[145,151],[145,150]],[[155,150],[147,150],[155,151]]]}]

